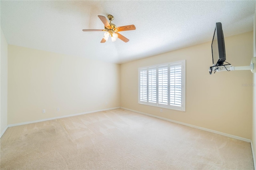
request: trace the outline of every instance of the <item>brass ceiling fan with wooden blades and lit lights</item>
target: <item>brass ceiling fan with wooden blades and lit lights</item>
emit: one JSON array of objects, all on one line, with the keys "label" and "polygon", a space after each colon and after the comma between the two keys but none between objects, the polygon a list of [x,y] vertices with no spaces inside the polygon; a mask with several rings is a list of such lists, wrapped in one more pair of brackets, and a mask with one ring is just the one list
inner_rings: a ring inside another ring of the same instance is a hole
[{"label": "brass ceiling fan with wooden blades and lit lights", "polygon": [[106,42],[108,40],[109,36],[111,36],[112,42],[116,41],[117,38],[119,38],[123,42],[128,42],[129,39],[122,36],[118,32],[136,29],[134,25],[116,27],[115,24],[111,23],[111,21],[114,20],[114,16],[112,16],[112,15],[108,15],[108,19],[110,20],[109,23],[108,23],[108,20],[106,19],[106,17],[101,16],[101,15],[98,15],[98,17],[100,18],[100,20],[103,22],[103,24],[105,26],[104,30],[90,29],[90,30],[83,30],[83,31],[104,31],[105,33],[104,33],[104,37],[101,40],[101,43]]}]

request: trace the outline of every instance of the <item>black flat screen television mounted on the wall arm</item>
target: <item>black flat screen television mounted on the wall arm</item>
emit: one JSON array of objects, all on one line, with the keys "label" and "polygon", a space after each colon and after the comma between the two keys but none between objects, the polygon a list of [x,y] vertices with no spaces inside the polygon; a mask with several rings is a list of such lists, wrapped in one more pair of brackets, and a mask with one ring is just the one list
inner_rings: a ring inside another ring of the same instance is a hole
[{"label": "black flat screen television mounted on the wall arm", "polygon": [[226,52],[222,24],[217,22],[212,39],[212,66],[223,65],[225,60]]}]

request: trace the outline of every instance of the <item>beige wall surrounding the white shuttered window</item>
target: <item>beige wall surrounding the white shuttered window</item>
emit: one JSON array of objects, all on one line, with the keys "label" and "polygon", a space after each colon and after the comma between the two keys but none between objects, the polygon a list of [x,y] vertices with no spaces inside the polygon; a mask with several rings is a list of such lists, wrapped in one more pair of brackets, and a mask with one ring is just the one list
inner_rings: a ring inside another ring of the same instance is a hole
[{"label": "beige wall surrounding the white shuttered window", "polygon": [[[226,56],[233,66],[249,65],[253,32],[225,38]],[[224,71],[209,75],[211,42],[121,65],[121,107],[198,127],[251,139],[252,73]],[[186,59],[186,112],[138,104],[138,67]]]}]

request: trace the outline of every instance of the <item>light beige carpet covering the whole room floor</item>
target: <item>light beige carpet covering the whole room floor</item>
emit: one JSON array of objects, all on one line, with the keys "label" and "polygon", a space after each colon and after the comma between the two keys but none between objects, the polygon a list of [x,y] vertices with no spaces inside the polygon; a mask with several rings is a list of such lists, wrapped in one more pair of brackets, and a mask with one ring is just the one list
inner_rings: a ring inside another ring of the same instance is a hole
[{"label": "light beige carpet covering the whole room floor", "polygon": [[250,143],[123,109],[10,127],[1,170],[254,169]]}]

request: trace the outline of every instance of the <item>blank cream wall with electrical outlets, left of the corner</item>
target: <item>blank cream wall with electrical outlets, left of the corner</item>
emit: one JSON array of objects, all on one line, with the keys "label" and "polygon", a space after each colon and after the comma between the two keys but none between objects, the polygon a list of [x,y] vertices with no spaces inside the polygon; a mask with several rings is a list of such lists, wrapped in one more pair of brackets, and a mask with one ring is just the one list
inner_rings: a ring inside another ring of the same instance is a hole
[{"label": "blank cream wall with electrical outlets, left of the corner", "polygon": [[119,106],[120,65],[8,45],[8,125]]}]

